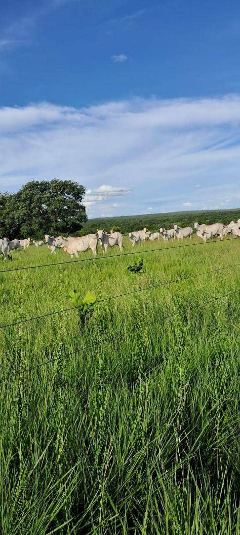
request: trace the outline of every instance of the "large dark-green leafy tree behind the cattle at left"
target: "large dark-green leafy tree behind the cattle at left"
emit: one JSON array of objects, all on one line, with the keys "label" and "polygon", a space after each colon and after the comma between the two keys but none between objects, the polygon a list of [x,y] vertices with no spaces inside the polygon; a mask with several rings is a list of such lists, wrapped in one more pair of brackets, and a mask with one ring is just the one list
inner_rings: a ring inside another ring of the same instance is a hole
[{"label": "large dark-green leafy tree behind the cattle at left", "polygon": [[43,180],[0,195],[1,237],[41,238],[79,231],[87,220],[84,193],[85,188],[71,180]]}]

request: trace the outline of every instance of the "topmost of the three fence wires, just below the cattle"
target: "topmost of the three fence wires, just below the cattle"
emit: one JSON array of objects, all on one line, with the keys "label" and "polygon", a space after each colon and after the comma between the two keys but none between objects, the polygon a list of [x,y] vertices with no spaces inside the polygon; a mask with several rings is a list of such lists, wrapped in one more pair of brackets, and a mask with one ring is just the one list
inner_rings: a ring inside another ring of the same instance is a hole
[{"label": "topmost of the three fence wires, just below the cattle", "polygon": [[39,264],[35,266],[25,266],[24,268],[13,268],[13,269],[6,269],[0,271],[0,273],[12,273],[13,271],[25,271],[28,269],[37,269],[37,268],[49,268],[50,266],[59,266],[64,264],[77,264],[79,262],[93,262],[96,260],[103,260],[108,258],[123,258],[124,256],[130,256],[130,255],[142,255],[144,253],[156,253],[156,251],[169,251],[171,249],[181,249],[183,247],[194,247],[197,245],[209,245],[210,243],[225,243],[226,241],[235,241],[236,238],[226,238],[225,240],[209,240],[209,241],[202,241],[197,243],[185,243],[184,245],[177,245],[177,246],[171,246],[171,247],[157,247],[156,249],[143,249],[141,251],[132,251],[131,253],[118,253],[117,255],[103,255],[103,256],[94,256],[91,258],[80,258],[79,260],[68,260],[67,262],[53,262],[51,264]]}]

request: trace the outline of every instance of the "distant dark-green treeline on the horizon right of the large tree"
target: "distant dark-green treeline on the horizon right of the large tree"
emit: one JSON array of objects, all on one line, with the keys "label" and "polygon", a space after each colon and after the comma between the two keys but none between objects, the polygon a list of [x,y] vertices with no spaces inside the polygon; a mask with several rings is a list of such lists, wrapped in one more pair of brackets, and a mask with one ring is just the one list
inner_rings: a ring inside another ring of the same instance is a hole
[{"label": "distant dark-green treeline on the horizon right of the large tree", "polygon": [[137,231],[143,227],[147,227],[150,232],[156,232],[157,228],[171,228],[174,224],[180,227],[194,226],[195,221],[206,225],[212,223],[228,224],[231,220],[240,217],[240,208],[232,210],[196,210],[189,212],[167,212],[167,213],[151,213],[140,216],[119,216],[89,219],[84,223],[81,231],[77,232],[77,236],[84,234],[91,234],[99,230],[110,232],[110,229],[118,230],[125,234],[130,231]]}]

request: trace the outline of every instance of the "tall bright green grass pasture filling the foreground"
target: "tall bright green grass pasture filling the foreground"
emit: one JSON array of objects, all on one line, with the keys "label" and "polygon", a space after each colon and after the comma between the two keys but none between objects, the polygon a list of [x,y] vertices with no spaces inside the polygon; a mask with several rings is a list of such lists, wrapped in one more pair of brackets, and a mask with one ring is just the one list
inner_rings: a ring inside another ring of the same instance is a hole
[{"label": "tall bright green grass pasture filling the foreground", "polygon": [[[100,300],[240,264],[238,239],[185,243],[0,273],[1,325],[71,307],[73,288]],[[30,246],[0,269],[68,260]],[[1,328],[1,377],[51,361],[1,381],[3,535],[239,533],[239,268],[97,303],[85,327],[70,310]]]}]

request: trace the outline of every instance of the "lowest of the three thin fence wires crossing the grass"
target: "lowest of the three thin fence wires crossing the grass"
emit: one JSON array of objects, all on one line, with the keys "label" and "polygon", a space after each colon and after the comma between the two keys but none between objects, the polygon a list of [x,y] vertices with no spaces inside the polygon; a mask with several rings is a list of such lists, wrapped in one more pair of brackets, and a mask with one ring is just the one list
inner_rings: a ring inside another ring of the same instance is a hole
[{"label": "lowest of the three thin fence wires crossing the grass", "polygon": [[110,335],[109,337],[107,337],[107,338],[105,338],[103,340],[99,340],[97,342],[94,342],[94,343],[92,343],[90,345],[87,345],[87,346],[84,346],[82,348],[77,348],[77,349],[75,349],[73,351],[70,351],[69,353],[66,353],[66,354],[64,354],[62,356],[50,358],[49,360],[41,362],[39,364],[36,364],[35,366],[29,366],[29,368],[24,368],[23,370],[20,370],[18,372],[7,374],[6,376],[3,376],[3,377],[0,378],[0,382],[2,383],[3,381],[11,379],[13,377],[24,375],[25,373],[28,373],[28,372],[37,370],[39,368],[42,368],[43,366],[46,366],[47,364],[51,364],[53,362],[57,362],[57,361],[63,360],[63,359],[65,359],[67,357],[70,357],[72,355],[76,355],[77,353],[82,353],[82,351],[86,351],[87,349],[91,349],[92,347],[96,347],[96,346],[102,345],[103,343],[116,340],[118,338],[123,337],[124,335],[132,334],[134,332],[139,331],[139,329],[151,327],[152,325],[156,325],[157,323],[161,323],[161,322],[163,323],[164,321],[166,321],[168,319],[171,319],[171,318],[173,318],[175,316],[179,316],[181,314],[184,314],[185,312],[189,312],[191,310],[196,310],[196,309],[201,309],[202,307],[205,307],[209,303],[213,303],[215,301],[219,301],[221,299],[224,299],[225,297],[230,297],[230,296],[236,295],[239,292],[240,292],[240,289],[236,290],[235,292],[229,292],[227,294],[223,294],[223,295],[220,295],[220,296],[214,296],[210,300],[207,300],[207,301],[204,301],[203,303],[200,303],[200,304],[197,304],[197,305],[193,305],[193,306],[178,310],[177,312],[173,312],[173,314],[170,314],[170,315],[167,315],[167,316],[163,316],[163,318],[161,318],[161,319],[157,319],[155,321],[151,321],[151,322],[148,322],[148,323],[143,323],[143,324],[140,324],[140,325],[136,325],[134,328],[127,329],[125,331],[122,331],[119,334]]}]

